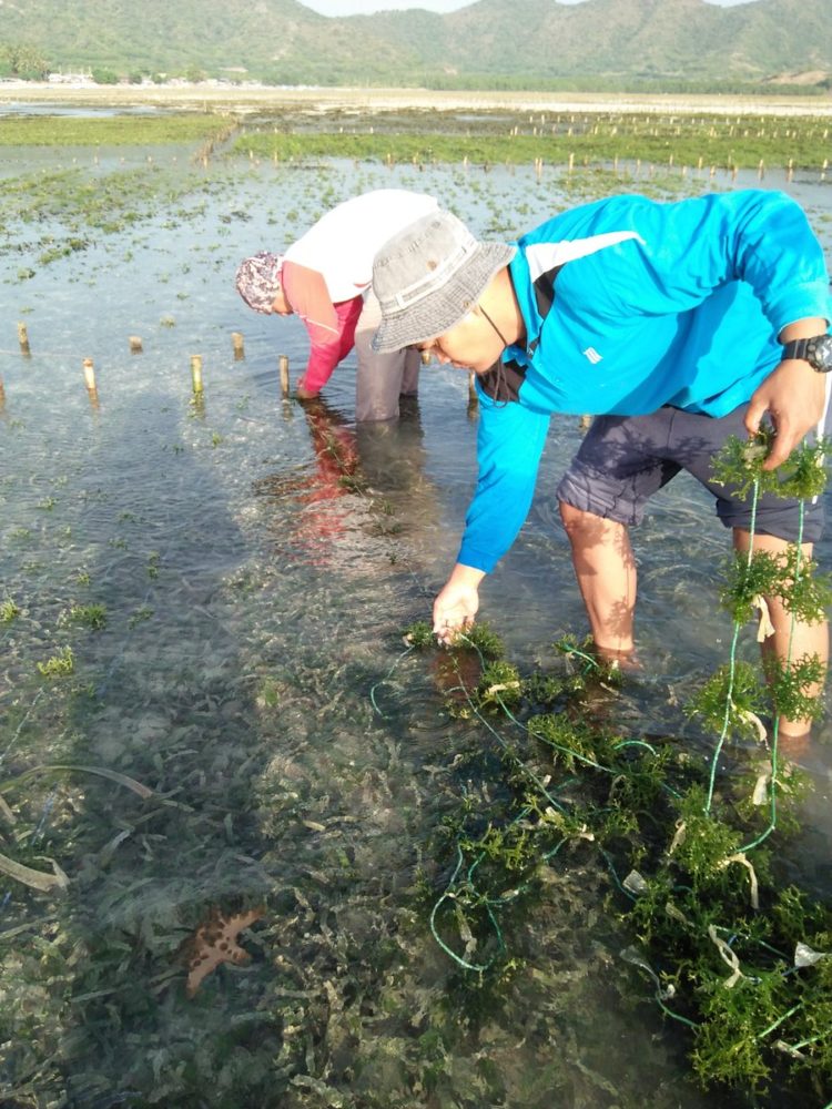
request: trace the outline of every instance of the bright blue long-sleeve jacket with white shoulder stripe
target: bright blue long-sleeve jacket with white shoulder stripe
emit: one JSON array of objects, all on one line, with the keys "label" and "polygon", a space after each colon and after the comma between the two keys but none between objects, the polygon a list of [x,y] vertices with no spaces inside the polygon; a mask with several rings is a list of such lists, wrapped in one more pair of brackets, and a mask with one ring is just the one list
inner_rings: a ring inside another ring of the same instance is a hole
[{"label": "bright blue long-sleeve jacket with white shoulder stripe", "polygon": [[517,247],[526,346],[478,381],[478,480],[458,559],[486,572],[526,519],[552,414],[724,416],[780,363],[783,327],[832,318],[823,252],[782,193],[615,196]]}]

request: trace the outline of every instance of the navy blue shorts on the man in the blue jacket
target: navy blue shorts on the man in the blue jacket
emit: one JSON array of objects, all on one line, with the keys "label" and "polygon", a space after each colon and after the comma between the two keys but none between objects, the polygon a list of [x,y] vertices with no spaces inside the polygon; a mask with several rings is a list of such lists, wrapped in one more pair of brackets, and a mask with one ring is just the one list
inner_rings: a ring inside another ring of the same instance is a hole
[{"label": "navy blue shorts on the man in the blue jacket", "polygon": [[[750,531],[751,497],[740,500],[711,474],[712,459],[729,436],[748,438],[747,408],[741,405],[720,418],[670,407],[650,416],[596,416],[558,486],[558,499],[603,519],[638,525],[648,499],[684,469],[713,494],[717,516],[727,528]],[[755,531],[795,542],[799,528],[799,501],[773,494],[758,499]],[[815,498],[804,507],[803,542],[816,542],[822,530],[823,506]]]}]

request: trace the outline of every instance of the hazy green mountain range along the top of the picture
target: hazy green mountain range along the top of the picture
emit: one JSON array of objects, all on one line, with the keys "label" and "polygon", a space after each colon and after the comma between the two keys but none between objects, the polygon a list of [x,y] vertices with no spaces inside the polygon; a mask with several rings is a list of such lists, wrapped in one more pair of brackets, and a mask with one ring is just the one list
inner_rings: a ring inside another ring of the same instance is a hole
[{"label": "hazy green mountain range along the top of the picture", "polygon": [[328,18],[296,0],[0,0],[52,70],[275,84],[832,89],[832,0],[478,0]]}]

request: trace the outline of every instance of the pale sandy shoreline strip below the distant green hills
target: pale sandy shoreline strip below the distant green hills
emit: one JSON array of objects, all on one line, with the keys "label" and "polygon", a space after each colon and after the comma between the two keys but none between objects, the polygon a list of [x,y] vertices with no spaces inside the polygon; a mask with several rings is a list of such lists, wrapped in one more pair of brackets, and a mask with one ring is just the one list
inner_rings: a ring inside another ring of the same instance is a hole
[{"label": "pale sandy shoreline strip below the distant green hills", "polygon": [[37,103],[110,108],[182,108],[250,112],[294,109],[334,111],[528,111],[528,112],[678,112],[735,115],[832,116],[832,95],[745,96],[454,91],[432,89],[276,88],[255,84],[94,85],[34,81],[0,82],[0,104]]}]

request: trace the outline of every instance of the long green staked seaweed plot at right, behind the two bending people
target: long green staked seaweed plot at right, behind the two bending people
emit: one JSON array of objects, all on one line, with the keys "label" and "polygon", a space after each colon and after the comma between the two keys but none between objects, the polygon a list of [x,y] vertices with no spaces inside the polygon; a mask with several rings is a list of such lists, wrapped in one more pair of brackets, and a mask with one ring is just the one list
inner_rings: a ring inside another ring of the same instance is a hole
[{"label": "long green staked seaweed plot at right, behind the two bending people", "polygon": [[[337,124],[337,126],[336,126]],[[778,118],[667,115],[649,112],[333,113],[318,119],[254,118],[234,149],[277,160],[322,155],[387,163],[599,165],[628,161],[656,167],[729,172],[829,167],[828,115]]]}]

